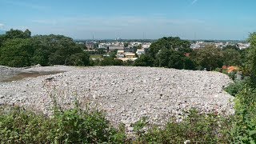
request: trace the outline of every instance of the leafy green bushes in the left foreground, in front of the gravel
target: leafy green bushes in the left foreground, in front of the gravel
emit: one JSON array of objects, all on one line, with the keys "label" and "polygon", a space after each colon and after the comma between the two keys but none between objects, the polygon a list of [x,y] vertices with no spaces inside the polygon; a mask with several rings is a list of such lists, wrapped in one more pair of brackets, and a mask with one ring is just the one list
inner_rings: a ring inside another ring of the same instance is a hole
[{"label": "leafy green bushes in the left foreground, in front of the gravel", "polygon": [[64,110],[53,118],[2,106],[0,110],[1,143],[122,143],[124,130],[115,130],[98,110]]}]

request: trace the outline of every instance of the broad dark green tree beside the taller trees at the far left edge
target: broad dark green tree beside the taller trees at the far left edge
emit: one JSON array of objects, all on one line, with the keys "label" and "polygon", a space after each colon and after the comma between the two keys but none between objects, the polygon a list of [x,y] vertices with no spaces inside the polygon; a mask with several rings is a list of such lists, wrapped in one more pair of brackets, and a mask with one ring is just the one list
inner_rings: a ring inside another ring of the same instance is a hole
[{"label": "broad dark green tree beside the taller trees at the far left edge", "polygon": [[[89,57],[84,52],[86,46],[74,43],[72,38],[63,35],[37,35],[33,38],[36,50],[33,64],[88,66]],[[77,57],[77,58],[75,58]]]}]

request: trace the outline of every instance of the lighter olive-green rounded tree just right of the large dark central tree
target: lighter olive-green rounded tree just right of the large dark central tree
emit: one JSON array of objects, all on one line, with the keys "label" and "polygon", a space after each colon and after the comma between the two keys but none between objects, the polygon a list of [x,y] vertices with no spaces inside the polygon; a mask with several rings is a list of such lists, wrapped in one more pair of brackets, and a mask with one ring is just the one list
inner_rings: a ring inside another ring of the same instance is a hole
[{"label": "lighter olive-green rounded tree just right of the large dark central tree", "polygon": [[190,55],[198,66],[206,68],[206,70],[214,70],[223,65],[222,51],[214,45],[194,50]]}]

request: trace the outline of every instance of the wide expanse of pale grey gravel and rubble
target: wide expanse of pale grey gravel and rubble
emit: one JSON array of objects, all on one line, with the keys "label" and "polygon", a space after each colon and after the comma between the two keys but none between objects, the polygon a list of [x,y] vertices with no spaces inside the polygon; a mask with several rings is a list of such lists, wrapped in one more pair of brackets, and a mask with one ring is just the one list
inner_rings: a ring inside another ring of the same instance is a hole
[{"label": "wide expanse of pale grey gravel and rubble", "polygon": [[[0,67],[0,77],[6,68]],[[22,70],[66,72],[0,82],[0,105],[28,106],[51,114],[51,97],[63,108],[74,106],[78,99],[82,106],[106,111],[114,126],[122,122],[127,130],[142,117],[160,126],[172,116],[181,121],[183,110],[191,108],[234,114],[234,98],[223,90],[232,80],[218,72],[128,66],[36,66]]]}]

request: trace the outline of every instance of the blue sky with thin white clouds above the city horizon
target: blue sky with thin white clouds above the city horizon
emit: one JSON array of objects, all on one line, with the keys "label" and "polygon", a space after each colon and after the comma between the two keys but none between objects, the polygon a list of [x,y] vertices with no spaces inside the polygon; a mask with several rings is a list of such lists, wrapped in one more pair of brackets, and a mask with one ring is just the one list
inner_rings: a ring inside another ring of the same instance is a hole
[{"label": "blue sky with thin white clouds above the city horizon", "polygon": [[71,38],[245,39],[255,0],[0,0],[0,30]]}]

